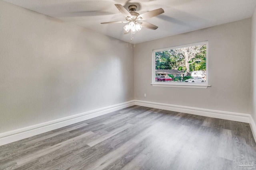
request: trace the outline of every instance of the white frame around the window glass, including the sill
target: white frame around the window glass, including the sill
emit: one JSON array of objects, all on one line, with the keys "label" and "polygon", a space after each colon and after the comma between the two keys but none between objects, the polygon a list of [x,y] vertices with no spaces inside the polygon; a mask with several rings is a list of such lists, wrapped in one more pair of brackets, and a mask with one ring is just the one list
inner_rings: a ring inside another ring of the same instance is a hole
[{"label": "white frame around the window glass, including the sill", "polygon": [[[156,52],[159,51],[167,51],[170,49],[179,49],[183,47],[190,47],[190,46],[196,46],[196,45],[204,45],[206,44],[206,82],[204,83],[189,83],[189,82],[156,82]],[[174,47],[166,47],[162,49],[154,49],[152,51],[152,86],[158,86],[158,87],[180,87],[180,88],[207,88],[210,85],[208,84],[208,51],[209,51],[209,45],[208,41],[202,41],[197,43],[190,43],[185,45],[178,45]]]}]

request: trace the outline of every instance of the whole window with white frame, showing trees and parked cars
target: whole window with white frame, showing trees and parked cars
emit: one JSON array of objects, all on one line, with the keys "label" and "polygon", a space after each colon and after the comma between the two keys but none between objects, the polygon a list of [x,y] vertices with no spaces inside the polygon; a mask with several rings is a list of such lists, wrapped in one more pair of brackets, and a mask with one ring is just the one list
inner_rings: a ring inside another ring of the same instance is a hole
[{"label": "whole window with white frame, showing trees and parked cars", "polygon": [[153,50],[153,86],[208,86],[208,41]]}]

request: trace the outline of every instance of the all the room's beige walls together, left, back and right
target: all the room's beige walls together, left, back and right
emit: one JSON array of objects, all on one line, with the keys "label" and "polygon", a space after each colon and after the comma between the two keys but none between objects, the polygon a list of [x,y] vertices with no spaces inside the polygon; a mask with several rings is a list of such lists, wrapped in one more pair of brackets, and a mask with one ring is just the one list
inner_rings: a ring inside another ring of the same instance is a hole
[{"label": "all the room's beige walls together, left, back and right", "polygon": [[[212,87],[150,85],[152,49],[206,40]],[[130,43],[0,0],[0,133],[134,98],[250,113],[252,96],[256,121],[255,44],[256,12],[252,25],[251,19],[246,19],[136,44],[134,48]]]}]

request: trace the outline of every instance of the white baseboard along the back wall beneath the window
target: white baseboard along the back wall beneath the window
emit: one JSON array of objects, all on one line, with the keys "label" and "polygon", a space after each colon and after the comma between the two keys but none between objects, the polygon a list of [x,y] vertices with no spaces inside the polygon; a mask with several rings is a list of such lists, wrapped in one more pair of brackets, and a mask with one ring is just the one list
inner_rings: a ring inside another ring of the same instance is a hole
[{"label": "white baseboard along the back wall beneath the window", "polygon": [[178,105],[172,105],[172,104],[162,104],[162,103],[147,102],[147,101],[141,101],[141,100],[135,100],[135,105],[153,107],[156,109],[177,111],[182,113],[189,113],[193,115],[214,117],[214,118],[226,119],[226,120],[232,120],[232,121],[240,121],[244,123],[250,122],[250,117],[249,117],[250,114],[245,114],[245,113],[202,109],[197,107],[178,106]]}]

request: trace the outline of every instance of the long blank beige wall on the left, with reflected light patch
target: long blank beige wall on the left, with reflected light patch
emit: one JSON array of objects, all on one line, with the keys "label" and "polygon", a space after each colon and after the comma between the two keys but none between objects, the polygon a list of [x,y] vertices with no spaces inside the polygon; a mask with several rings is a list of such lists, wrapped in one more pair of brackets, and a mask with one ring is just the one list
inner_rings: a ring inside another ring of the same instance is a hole
[{"label": "long blank beige wall on the left, with reflected light patch", "polygon": [[0,133],[133,99],[132,44],[0,0]]}]

